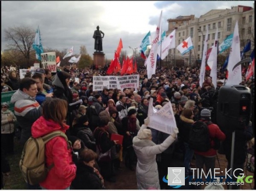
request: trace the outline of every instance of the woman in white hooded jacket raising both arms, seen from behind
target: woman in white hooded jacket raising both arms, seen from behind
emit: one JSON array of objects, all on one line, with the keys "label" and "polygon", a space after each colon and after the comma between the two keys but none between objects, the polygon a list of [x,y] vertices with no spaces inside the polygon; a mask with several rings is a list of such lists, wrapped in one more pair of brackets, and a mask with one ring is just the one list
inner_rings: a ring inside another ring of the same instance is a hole
[{"label": "woman in white hooded jacket raising both arms, seen from behind", "polygon": [[137,155],[138,162],[136,168],[137,185],[140,190],[160,189],[158,177],[158,165],[156,164],[156,154],[166,150],[176,139],[179,130],[175,128],[162,144],[156,145],[152,142],[152,134],[147,128],[149,120],[146,118],[144,124],[133,139],[134,151]]}]

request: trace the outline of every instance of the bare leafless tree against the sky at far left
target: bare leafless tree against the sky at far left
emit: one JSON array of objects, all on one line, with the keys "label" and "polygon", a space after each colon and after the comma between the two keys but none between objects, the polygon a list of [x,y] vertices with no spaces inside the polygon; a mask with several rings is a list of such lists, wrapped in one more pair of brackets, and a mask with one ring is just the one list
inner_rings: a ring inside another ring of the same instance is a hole
[{"label": "bare leafless tree against the sky at far left", "polygon": [[29,66],[31,54],[35,54],[35,50],[32,48],[35,30],[28,26],[9,27],[5,29],[5,39],[9,42],[7,47],[22,53],[27,66]]}]

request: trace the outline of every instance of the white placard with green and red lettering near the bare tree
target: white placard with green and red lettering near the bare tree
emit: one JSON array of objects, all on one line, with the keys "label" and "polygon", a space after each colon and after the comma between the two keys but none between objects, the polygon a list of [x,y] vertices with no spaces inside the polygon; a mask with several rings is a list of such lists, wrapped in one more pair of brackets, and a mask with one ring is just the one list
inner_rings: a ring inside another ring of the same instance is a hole
[{"label": "white placard with green and red lettering near the bare tree", "polygon": [[49,69],[52,73],[57,72],[55,52],[42,53],[41,60],[43,69]]}]

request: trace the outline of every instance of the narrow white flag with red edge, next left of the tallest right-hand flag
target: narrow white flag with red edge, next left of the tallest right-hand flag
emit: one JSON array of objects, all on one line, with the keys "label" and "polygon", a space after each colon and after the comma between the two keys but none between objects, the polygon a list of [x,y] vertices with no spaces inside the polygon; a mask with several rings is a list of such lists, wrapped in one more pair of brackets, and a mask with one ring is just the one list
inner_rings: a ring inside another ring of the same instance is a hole
[{"label": "narrow white flag with red edge, next left of the tallest right-hand flag", "polygon": [[210,77],[212,77],[212,83],[214,88],[217,87],[217,56],[218,56],[218,28],[214,37],[214,45],[208,58],[207,64],[210,67]]}]

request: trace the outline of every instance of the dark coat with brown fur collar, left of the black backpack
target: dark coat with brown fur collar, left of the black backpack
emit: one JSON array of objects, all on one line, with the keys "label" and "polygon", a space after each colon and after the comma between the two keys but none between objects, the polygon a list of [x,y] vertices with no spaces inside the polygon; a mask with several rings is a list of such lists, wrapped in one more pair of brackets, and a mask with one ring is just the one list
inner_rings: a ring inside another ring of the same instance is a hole
[{"label": "dark coat with brown fur collar, left of the black backpack", "polygon": [[177,126],[179,128],[179,137],[181,141],[188,143],[189,132],[192,128],[193,120],[190,118],[186,118],[183,115],[180,115],[180,122]]}]

